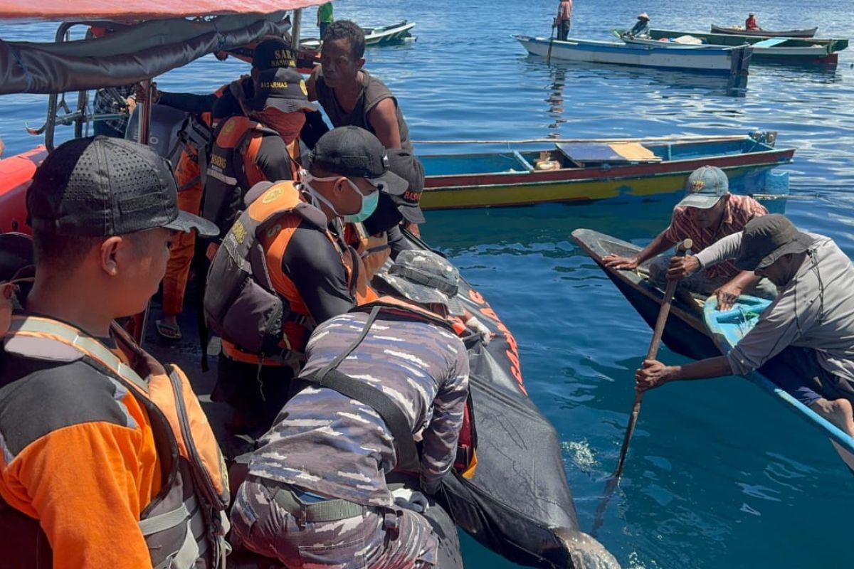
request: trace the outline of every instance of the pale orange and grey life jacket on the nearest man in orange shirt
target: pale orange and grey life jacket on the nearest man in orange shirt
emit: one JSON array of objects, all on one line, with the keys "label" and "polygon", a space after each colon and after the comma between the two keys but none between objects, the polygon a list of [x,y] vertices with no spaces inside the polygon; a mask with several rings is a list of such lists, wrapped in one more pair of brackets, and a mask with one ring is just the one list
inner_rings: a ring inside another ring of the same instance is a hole
[{"label": "pale orange and grey life jacket on the nearest man in orange shirt", "polygon": [[[4,350],[49,365],[80,360],[125,386],[147,410],[157,448],[172,449],[171,453],[158,454],[163,486],[139,520],[151,566],[223,566],[228,550],[225,508],[229,488],[225,462],[208,418],[180,369],[161,366],[117,324],[112,332],[133,368],[78,328],[40,316],[11,316],[3,335]],[[21,535],[38,531],[38,542],[48,543],[44,531],[32,527],[38,528],[38,520],[12,508],[3,509],[5,515],[15,516],[11,526],[20,528]],[[44,566],[45,551],[37,549],[4,550],[3,563]]]}]

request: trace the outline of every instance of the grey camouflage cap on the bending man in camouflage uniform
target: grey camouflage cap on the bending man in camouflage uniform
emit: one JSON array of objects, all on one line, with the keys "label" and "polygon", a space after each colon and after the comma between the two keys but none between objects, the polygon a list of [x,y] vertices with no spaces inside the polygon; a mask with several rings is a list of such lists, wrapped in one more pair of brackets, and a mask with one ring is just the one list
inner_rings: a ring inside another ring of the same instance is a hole
[{"label": "grey camouflage cap on the bending man in camouflage uniform", "polygon": [[398,253],[388,271],[377,278],[419,305],[445,305],[455,316],[463,316],[459,301],[459,270],[437,253],[409,249]]}]

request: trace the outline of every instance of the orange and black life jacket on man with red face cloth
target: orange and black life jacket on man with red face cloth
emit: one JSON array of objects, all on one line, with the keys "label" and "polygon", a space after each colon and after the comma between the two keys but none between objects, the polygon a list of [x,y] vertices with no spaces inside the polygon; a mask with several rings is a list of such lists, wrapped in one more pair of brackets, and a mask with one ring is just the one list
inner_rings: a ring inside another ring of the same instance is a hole
[{"label": "orange and black life jacket on man with red face cloth", "polygon": [[[225,234],[243,211],[243,199],[250,188],[259,182],[277,181],[266,180],[257,164],[258,151],[265,134],[276,134],[276,131],[245,116],[229,117],[219,125],[219,134],[208,161],[202,217],[217,224],[220,235]],[[290,160],[291,175],[297,179],[299,139],[290,142],[287,147],[289,156],[282,158]]]}]

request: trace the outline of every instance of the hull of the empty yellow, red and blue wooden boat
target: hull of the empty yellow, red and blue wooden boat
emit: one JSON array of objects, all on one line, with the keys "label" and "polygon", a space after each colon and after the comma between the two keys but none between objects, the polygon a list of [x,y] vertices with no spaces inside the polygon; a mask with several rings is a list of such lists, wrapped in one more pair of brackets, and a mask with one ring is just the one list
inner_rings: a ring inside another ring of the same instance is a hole
[{"label": "hull of the empty yellow, red and blue wooden boat", "polygon": [[[662,155],[658,162],[602,163],[538,171],[532,166],[537,152],[494,154],[419,155],[426,174],[423,209],[524,206],[547,202],[675,199],[691,172],[716,165],[727,172],[734,192],[780,194],[769,171],[792,161],[792,148],[759,145],[757,152],[738,141],[643,143]],[[678,160],[664,160],[670,155]]]}]

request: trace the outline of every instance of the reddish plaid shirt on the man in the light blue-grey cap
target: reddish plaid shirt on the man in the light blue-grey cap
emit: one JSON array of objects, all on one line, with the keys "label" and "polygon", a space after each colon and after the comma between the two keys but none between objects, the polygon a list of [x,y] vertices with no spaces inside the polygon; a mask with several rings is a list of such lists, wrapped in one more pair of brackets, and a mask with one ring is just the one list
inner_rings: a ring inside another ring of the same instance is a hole
[{"label": "reddish plaid shirt on the man in the light blue-grey cap", "polygon": [[[703,228],[697,227],[693,223],[688,217],[686,208],[676,207],[673,210],[670,227],[664,230],[664,238],[673,242],[691,239],[693,241],[691,250],[692,253],[696,254],[715,241],[745,229],[748,221],[766,213],[768,210],[749,195],[730,194],[721,223],[718,224],[717,228]],[[731,279],[741,272],[730,261],[708,267],[705,271],[710,278],[725,277],[727,279]]]}]

